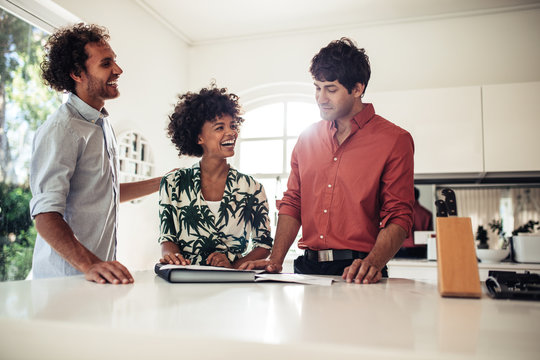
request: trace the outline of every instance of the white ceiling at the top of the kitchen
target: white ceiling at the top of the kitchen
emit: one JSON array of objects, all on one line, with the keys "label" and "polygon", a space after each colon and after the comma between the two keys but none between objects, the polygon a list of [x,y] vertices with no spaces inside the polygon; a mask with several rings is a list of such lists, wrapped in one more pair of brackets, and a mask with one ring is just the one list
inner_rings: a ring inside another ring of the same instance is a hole
[{"label": "white ceiling at the top of the kitchen", "polygon": [[189,45],[540,7],[540,0],[135,0]]}]

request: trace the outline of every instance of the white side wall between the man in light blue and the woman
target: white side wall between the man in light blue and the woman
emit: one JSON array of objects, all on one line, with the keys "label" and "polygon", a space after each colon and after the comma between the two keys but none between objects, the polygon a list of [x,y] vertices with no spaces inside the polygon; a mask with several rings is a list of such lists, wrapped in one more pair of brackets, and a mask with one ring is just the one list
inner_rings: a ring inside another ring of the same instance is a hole
[{"label": "white side wall between the man in light blue and the woman", "polygon": [[[120,97],[105,104],[116,134],[137,130],[149,140],[156,176],[191,164],[193,160],[179,160],[165,132],[176,95],[188,88],[186,44],[133,1],[56,2],[83,21],[109,29],[111,46],[124,70]],[[160,256],[157,194],[122,204],[119,222],[118,260],[130,270],[153,268]]]}]

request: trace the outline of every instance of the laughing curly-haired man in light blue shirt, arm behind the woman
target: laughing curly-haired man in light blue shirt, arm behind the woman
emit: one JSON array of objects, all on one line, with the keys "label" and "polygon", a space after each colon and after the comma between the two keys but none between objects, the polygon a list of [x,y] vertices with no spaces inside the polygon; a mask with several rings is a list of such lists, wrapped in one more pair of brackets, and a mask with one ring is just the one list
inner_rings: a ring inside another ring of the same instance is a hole
[{"label": "laughing curly-haired man in light blue shirt, arm behind the woman", "polygon": [[119,184],[118,150],[105,101],[119,96],[105,28],[77,24],[52,34],[43,80],[68,100],[38,129],[30,166],[30,202],[38,236],[34,278],[83,273],[98,283],[128,284],[116,258],[118,207],[158,190],[160,178]]}]

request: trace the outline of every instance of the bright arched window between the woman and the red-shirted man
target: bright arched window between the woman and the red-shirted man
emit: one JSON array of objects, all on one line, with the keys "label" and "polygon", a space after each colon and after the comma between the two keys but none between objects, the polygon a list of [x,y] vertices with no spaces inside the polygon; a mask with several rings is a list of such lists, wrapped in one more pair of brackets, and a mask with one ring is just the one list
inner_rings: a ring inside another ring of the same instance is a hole
[{"label": "bright arched window between the woman and the red-shirted man", "polygon": [[237,168],[263,184],[274,234],[276,200],[287,189],[292,150],[300,133],[320,120],[319,109],[307,100],[284,100],[252,107],[244,118],[238,138]]}]

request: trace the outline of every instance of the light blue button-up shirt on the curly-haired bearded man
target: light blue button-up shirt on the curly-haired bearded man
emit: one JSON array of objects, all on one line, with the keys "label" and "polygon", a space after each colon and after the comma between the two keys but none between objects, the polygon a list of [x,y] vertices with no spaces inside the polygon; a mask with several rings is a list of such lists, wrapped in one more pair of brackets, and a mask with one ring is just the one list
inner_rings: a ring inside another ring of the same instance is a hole
[{"label": "light blue button-up shirt on the curly-haired bearded man", "polygon": [[[38,129],[30,165],[32,217],[60,213],[77,239],[103,261],[116,257],[118,150],[105,109],[75,94]],[[80,274],[38,234],[34,278]]]}]

